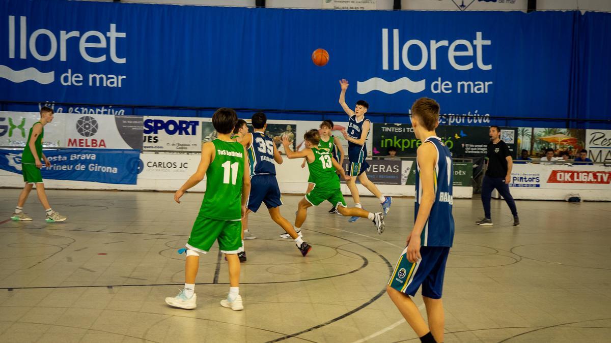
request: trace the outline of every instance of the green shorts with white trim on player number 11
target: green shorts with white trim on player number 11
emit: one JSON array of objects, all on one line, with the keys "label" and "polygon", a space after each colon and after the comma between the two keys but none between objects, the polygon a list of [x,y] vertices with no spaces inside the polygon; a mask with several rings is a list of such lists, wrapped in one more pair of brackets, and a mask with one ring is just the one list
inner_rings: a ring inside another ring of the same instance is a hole
[{"label": "green shorts with white trim on player number 11", "polygon": [[219,241],[221,253],[238,253],[238,249],[242,247],[242,221],[217,220],[197,215],[185,247],[207,253],[215,240]]}]

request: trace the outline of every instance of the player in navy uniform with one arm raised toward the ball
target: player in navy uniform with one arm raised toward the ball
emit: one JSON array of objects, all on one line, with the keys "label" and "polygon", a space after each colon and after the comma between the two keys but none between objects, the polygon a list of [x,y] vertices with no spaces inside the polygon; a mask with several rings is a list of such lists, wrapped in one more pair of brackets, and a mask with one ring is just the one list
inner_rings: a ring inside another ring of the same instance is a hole
[{"label": "player in navy uniform with one arm raised toward the ball", "polygon": [[[371,129],[371,121],[365,118],[365,113],[369,109],[369,104],[365,100],[359,100],[356,102],[354,110],[348,107],[346,104],[346,90],[348,89],[348,81],[345,79],[340,80],[340,87],[342,92],[340,93],[340,105],[343,110],[350,116],[348,120],[348,129],[342,130],[344,138],[348,140],[348,161],[349,161],[349,176],[350,181],[346,182],[352,198],[354,200],[354,206],[362,208],[360,204],[359,190],[356,187],[356,178],[359,178],[360,184],[365,186],[376,198],[380,201],[384,215],[388,214],[390,210],[390,202],[392,198],[384,197],[379,191],[378,187],[367,178],[367,168],[369,164],[365,161],[367,157],[367,135]],[[355,222],[359,217],[350,217],[348,222]]]}]

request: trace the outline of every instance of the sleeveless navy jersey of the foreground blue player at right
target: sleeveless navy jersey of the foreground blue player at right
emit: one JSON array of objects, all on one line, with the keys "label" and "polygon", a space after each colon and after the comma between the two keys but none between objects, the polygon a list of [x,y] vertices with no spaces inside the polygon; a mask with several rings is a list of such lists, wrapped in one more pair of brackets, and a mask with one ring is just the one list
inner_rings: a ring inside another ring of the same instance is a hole
[{"label": "sleeveless navy jersey of the foreground blue player at right", "polygon": [[[452,247],[454,239],[454,217],[452,217],[452,182],[454,171],[452,154],[439,137],[428,137],[423,144],[430,142],[437,149],[437,162],[434,168],[433,189],[435,202],[431,214],[422,229],[420,244],[423,247]],[[422,199],[420,165],[416,161],[416,197],[414,220],[418,215]]]}]

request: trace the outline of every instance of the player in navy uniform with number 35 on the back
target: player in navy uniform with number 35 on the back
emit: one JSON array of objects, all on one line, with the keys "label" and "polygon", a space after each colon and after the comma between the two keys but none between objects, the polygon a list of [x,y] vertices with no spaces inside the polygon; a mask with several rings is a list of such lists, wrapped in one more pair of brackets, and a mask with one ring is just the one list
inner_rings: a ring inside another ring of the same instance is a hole
[{"label": "player in navy uniform with number 35 on the back", "polygon": [[[263,112],[252,115],[254,132],[244,135],[242,145],[248,153],[251,165],[251,193],[246,203],[246,215],[257,212],[262,203],[268,208],[269,215],[286,233],[295,240],[295,244],[303,256],[312,250],[309,244],[301,239],[290,222],[280,215],[280,187],[276,180],[276,165],[282,164],[282,156],[274,144],[274,140],[265,135],[267,117]],[[244,216],[246,218],[246,216]],[[244,253],[246,261],[246,253]]]}]

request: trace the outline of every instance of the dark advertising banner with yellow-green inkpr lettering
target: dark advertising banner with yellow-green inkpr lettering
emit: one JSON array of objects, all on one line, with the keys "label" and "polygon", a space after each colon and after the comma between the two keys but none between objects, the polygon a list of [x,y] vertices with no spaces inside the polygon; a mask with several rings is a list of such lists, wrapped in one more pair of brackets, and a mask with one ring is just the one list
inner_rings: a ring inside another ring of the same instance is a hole
[{"label": "dark advertising banner with yellow-green inkpr lettering", "polygon": [[[490,142],[488,126],[440,125],[437,135],[450,149],[453,157],[475,157],[486,154]],[[517,128],[501,128],[501,139],[516,157]],[[376,123],[373,125],[373,156],[387,156],[388,148],[397,149],[397,156],[416,156],[422,144],[409,124]]]}]

